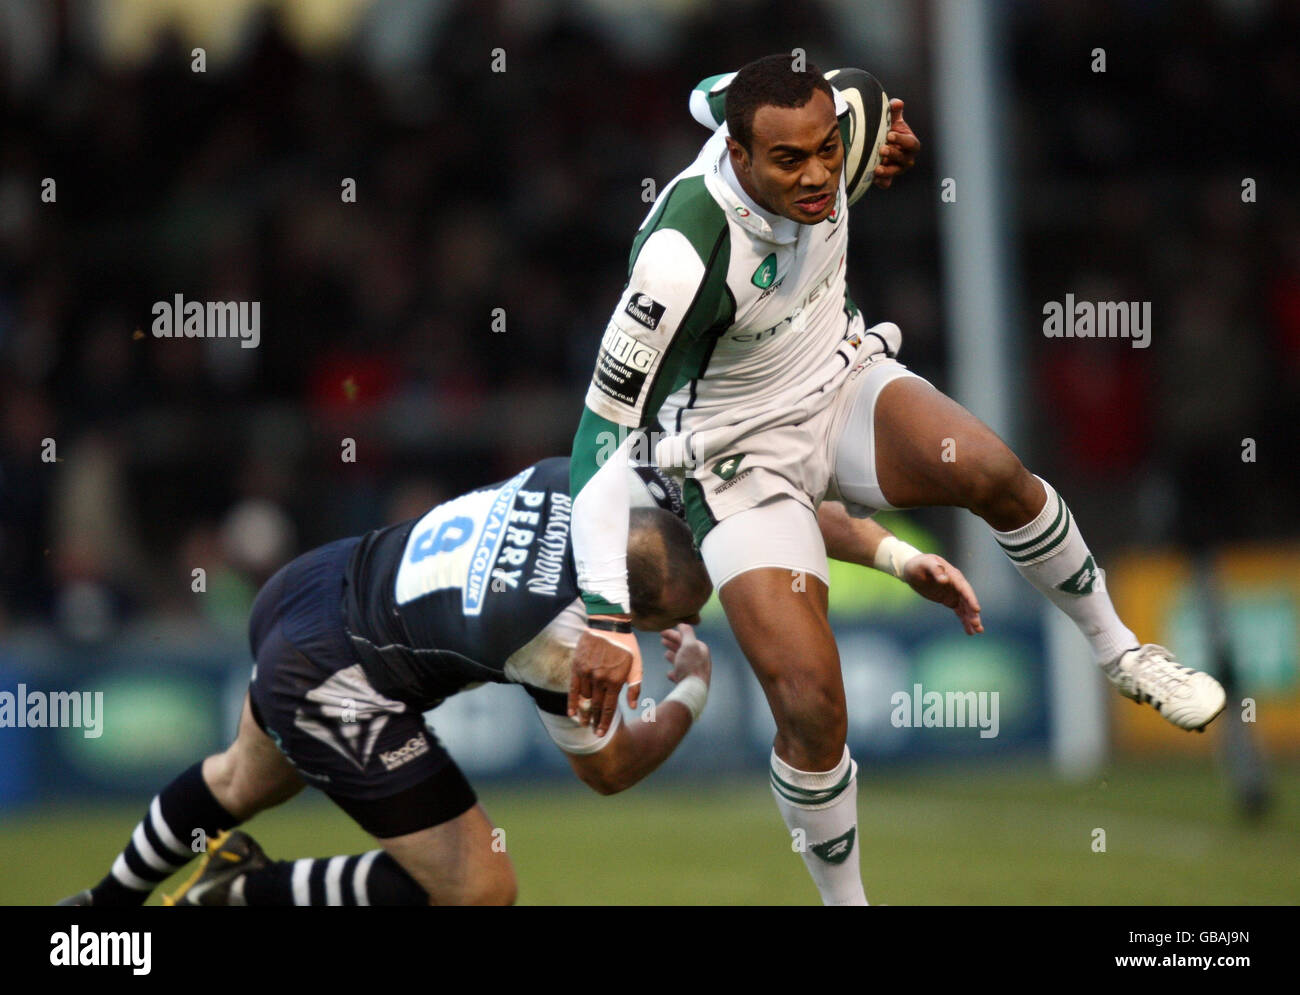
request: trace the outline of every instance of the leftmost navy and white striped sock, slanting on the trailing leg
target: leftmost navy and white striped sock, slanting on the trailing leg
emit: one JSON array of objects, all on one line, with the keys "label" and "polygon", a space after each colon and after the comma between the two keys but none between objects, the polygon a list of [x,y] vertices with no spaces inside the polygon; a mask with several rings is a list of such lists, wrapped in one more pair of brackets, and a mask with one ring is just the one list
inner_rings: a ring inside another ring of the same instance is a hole
[{"label": "leftmost navy and white striped sock, slanting on the trailing leg", "polygon": [[[239,819],[222,808],[203,779],[203,761],[181,774],[150,803],[113,869],[91,892],[95,905],[143,905],[161,882],[196,857],[203,847]],[[196,831],[202,830],[203,835]]]}]

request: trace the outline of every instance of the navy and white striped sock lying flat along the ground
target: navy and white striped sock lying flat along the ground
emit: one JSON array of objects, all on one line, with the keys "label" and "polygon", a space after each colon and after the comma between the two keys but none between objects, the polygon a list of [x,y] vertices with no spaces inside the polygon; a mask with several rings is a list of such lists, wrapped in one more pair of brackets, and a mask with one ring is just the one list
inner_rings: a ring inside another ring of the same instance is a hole
[{"label": "navy and white striped sock lying flat along the ground", "polygon": [[415,878],[381,849],[351,857],[281,860],[230,887],[231,905],[428,905]]}]

